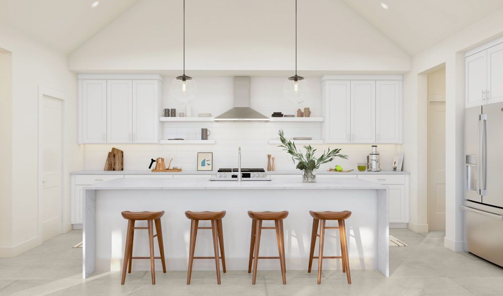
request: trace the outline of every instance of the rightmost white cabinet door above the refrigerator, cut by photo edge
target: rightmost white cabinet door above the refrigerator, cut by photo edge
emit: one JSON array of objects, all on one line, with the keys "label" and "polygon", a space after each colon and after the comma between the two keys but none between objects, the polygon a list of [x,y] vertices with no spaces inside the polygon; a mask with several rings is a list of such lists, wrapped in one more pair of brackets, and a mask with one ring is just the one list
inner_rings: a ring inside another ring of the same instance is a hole
[{"label": "rightmost white cabinet door above the refrigerator, cut by photo edge", "polygon": [[487,103],[503,101],[503,43],[487,50]]}]

